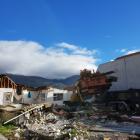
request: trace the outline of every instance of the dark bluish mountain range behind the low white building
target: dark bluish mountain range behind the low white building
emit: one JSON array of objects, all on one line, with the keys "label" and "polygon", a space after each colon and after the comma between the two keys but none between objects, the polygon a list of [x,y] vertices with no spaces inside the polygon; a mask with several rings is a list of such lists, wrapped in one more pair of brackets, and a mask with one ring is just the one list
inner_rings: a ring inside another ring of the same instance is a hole
[{"label": "dark bluish mountain range behind the low white building", "polygon": [[37,88],[40,86],[54,86],[58,88],[64,88],[73,86],[79,79],[79,75],[73,75],[65,79],[47,79],[40,76],[25,76],[16,74],[6,74],[15,83],[22,84],[27,87]]}]

